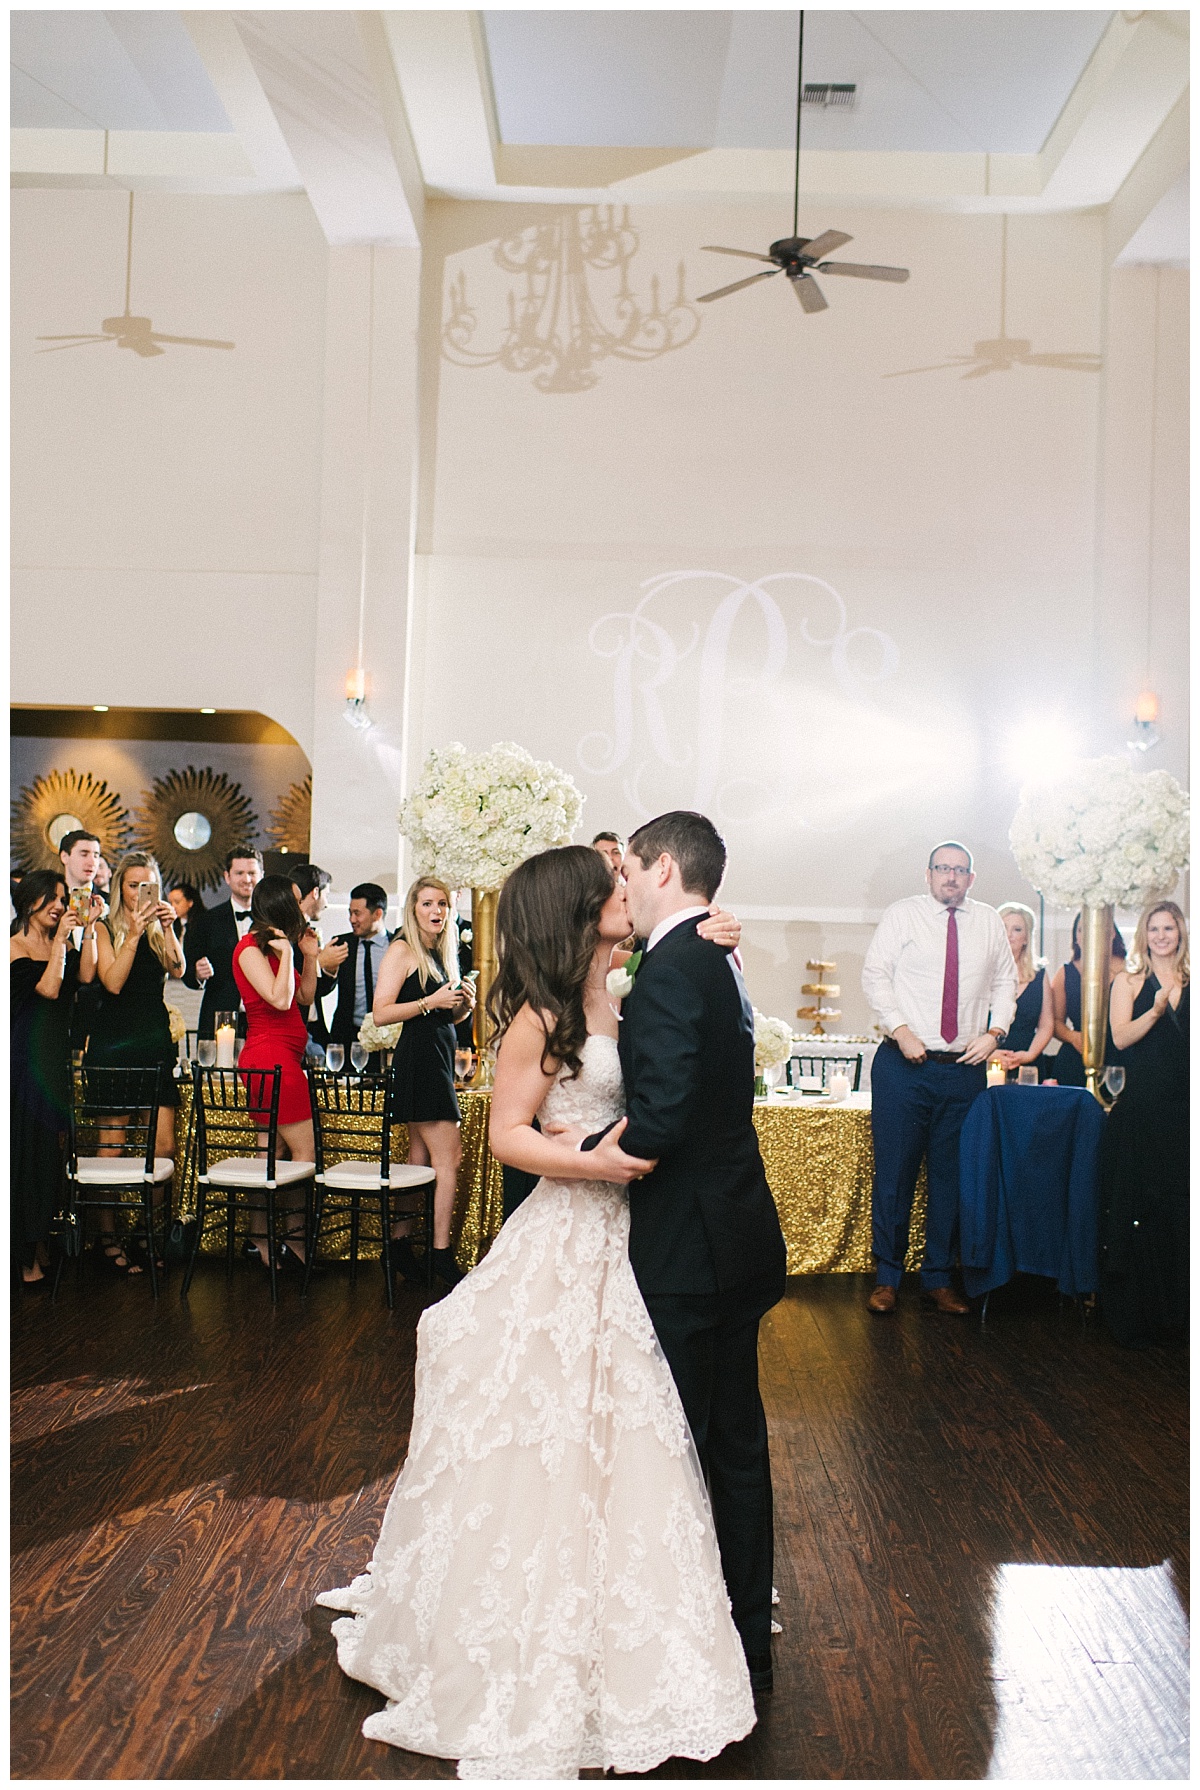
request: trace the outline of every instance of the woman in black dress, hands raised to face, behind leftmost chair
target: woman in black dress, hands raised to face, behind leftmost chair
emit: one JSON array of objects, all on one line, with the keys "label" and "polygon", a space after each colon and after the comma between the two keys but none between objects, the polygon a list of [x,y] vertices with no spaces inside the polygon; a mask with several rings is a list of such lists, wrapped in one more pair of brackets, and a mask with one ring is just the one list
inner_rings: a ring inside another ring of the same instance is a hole
[{"label": "woman in black dress, hands raised to face, behind leftmost chair", "polygon": [[[183,949],[176,938],[176,909],[163,900],[159,868],[149,852],[125,852],[113,875],[107,920],[97,927],[99,976],[104,986],[84,1054],[88,1069],[154,1069],[161,1065],[156,1156],[176,1155],[179,1088],[172,1070],[179,1053],[170,1038],[165,988],[183,976]],[[100,1156],[120,1156],[127,1113],[102,1133]],[[100,1212],[100,1255],[118,1274],[131,1269],[115,1235],[113,1208]],[[161,1266],[161,1264],[159,1264]]]}]

